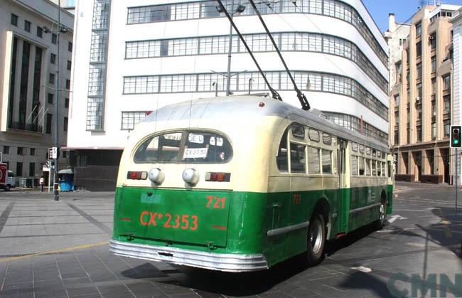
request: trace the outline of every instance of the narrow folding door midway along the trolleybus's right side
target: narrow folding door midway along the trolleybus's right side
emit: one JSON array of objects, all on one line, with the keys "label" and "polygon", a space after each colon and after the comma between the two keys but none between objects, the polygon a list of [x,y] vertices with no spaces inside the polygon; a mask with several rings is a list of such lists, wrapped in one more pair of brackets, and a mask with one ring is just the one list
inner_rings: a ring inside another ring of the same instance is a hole
[{"label": "narrow folding door midway along the trolleybus's right side", "polygon": [[347,174],[347,144],[344,139],[338,139],[337,162],[338,162],[338,214],[337,233],[345,233],[348,229],[348,218],[350,210],[350,181]]}]

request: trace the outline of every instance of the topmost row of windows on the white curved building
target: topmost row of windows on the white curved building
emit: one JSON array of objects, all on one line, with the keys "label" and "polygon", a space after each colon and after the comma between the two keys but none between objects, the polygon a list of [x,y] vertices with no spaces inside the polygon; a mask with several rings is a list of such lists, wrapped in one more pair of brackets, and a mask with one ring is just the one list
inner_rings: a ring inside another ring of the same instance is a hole
[{"label": "topmost row of windows on the white curved building", "polygon": [[[248,4],[247,0],[227,0],[223,1],[225,6],[231,8],[232,2],[239,2],[246,6],[243,15],[254,15],[255,11]],[[237,5],[237,3],[235,3]],[[387,53],[382,49],[367,25],[362,20],[358,11],[349,4],[337,0],[281,0],[271,4],[256,4],[261,14],[286,14],[286,13],[303,13],[303,14],[321,14],[340,18],[343,21],[351,23],[358,29],[365,41],[377,53],[383,65],[387,67]],[[129,7],[127,14],[127,23],[153,23],[161,21],[178,21],[193,18],[217,18],[225,16],[216,9],[216,1],[198,1],[182,4],[163,4],[155,6]]]}]

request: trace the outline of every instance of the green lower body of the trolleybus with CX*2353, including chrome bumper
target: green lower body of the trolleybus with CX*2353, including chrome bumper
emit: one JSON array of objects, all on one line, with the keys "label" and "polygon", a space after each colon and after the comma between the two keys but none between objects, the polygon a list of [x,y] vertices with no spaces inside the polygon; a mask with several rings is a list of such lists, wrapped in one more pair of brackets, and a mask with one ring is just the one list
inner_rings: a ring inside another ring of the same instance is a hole
[{"label": "green lower body of the trolleybus with CX*2353, including chrome bumper", "polygon": [[215,270],[264,270],[306,251],[313,211],[326,212],[328,238],[335,238],[377,220],[382,192],[391,213],[392,186],[283,193],[119,187],[110,250]]}]

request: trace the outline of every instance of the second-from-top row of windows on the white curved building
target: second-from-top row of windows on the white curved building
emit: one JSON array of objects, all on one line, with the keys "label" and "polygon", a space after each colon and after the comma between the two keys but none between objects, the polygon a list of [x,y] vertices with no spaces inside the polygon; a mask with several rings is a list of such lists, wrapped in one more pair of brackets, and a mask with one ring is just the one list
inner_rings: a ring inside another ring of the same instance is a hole
[{"label": "second-from-top row of windows on the white curved building", "polygon": [[[267,34],[243,36],[252,52],[274,51]],[[383,92],[388,92],[388,82],[375,65],[354,43],[336,36],[318,33],[274,33],[274,41],[281,51],[307,51],[328,53],[348,58],[355,62]],[[196,38],[175,38],[151,41],[129,41],[125,46],[125,58],[156,58],[178,55],[225,54],[228,52],[229,36],[203,36]],[[244,43],[237,36],[232,37],[232,52],[247,53]]]}]

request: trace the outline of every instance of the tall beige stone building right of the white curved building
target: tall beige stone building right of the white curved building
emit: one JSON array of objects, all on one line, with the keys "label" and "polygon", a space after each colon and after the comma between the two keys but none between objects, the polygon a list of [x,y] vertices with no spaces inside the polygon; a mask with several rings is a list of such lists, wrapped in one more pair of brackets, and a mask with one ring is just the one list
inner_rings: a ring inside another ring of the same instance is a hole
[{"label": "tall beige stone building right of the white curved building", "polygon": [[451,183],[453,33],[460,6],[424,6],[412,17],[390,92],[396,180]]}]

